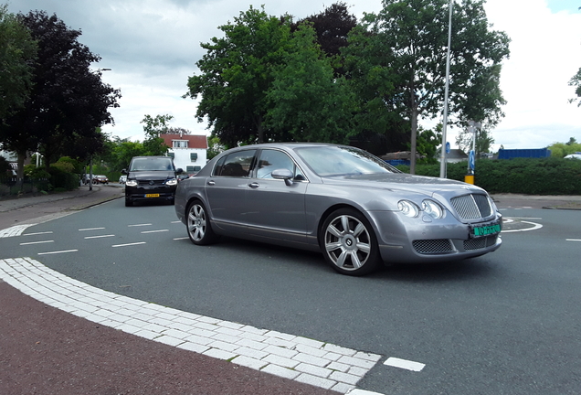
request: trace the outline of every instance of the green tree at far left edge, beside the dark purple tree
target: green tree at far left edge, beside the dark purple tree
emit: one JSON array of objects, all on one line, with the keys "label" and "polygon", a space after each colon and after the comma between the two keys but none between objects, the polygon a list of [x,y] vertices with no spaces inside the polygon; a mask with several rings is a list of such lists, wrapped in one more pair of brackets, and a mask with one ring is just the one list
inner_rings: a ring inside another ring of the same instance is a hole
[{"label": "green tree at far left edge, beside the dark purple tree", "polygon": [[37,42],[7,5],[0,5],[0,123],[22,108],[32,89]]}]

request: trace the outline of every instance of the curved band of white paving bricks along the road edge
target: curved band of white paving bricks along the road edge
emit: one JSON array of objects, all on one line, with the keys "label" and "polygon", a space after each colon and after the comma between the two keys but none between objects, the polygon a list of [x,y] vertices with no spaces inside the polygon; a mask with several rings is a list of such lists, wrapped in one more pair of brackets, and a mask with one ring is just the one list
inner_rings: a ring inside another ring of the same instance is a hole
[{"label": "curved band of white paving bricks along the road edge", "polygon": [[102,326],[343,394],[375,394],[355,385],[380,355],[113,294],[31,258],[0,260],[0,279]]}]

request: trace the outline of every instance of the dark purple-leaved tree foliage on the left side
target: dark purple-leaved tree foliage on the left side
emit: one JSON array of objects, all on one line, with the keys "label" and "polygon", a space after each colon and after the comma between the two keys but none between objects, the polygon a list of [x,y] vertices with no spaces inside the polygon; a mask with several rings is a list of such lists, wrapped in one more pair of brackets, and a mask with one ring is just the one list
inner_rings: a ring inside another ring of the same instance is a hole
[{"label": "dark purple-leaved tree foliage on the left side", "polygon": [[0,141],[18,154],[19,169],[29,151],[41,151],[47,166],[78,144],[95,150],[85,156],[94,154],[102,147],[96,128],[113,122],[108,109],[118,106],[120,91],[90,69],[100,57],[79,43],[79,30],[43,11],[17,17],[38,43],[34,85],[24,107],[5,120]]}]

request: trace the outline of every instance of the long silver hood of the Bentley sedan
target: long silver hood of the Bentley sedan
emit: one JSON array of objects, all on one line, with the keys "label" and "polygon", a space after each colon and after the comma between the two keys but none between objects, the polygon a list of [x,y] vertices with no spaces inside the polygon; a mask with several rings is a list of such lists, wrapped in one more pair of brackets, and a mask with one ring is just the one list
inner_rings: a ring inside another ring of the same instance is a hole
[{"label": "long silver hood of the Bentley sedan", "polygon": [[408,174],[373,174],[354,176],[332,176],[322,178],[324,184],[350,185],[360,188],[377,188],[390,191],[418,193],[434,197],[435,195],[450,196],[482,193],[481,187],[476,187],[448,178],[431,176],[413,176]]}]

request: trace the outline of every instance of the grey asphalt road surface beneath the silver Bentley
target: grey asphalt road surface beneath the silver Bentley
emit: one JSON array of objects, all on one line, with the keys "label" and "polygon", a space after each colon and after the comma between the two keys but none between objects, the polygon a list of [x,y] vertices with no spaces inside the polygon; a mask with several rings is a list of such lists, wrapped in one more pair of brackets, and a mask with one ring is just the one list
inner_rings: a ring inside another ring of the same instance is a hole
[{"label": "grey asphalt road surface beneath the silver Bentley", "polygon": [[[364,390],[578,394],[581,211],[503,214],[518,226],[505,228],[499,251],[364,278],[336,274],[318,253],[232,239],[196,247],[173,206],[121,199],[0,240],[0,251],[117,294],[384,356]],[[55,251],[71,252],[45,254]]]}]

